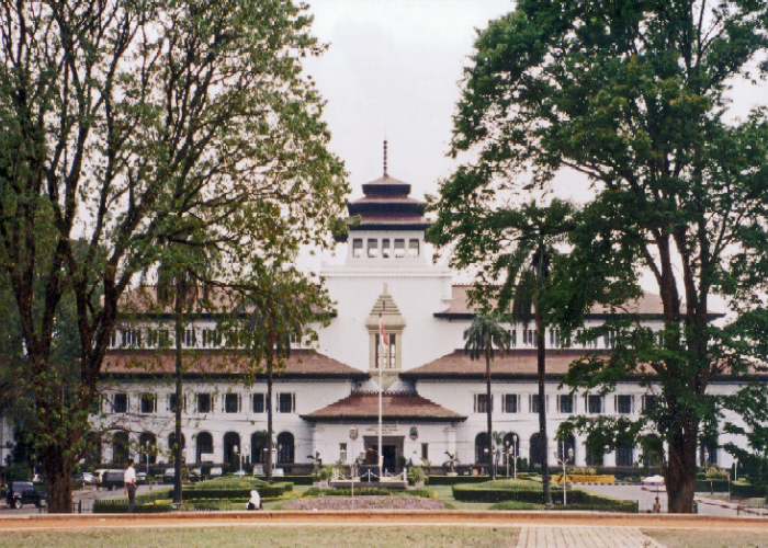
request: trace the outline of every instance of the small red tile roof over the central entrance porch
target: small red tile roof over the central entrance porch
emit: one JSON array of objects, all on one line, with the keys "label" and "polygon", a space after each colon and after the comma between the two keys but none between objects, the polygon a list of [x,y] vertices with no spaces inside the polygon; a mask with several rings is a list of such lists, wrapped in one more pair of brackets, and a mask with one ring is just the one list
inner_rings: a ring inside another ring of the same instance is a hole
[{"label": "small red tile roof over the central entrance porch", "polygon": [[[464,421],[465,415],[438,406],[417,393],[384,393],[382,418],[386,421]],[[379,419],[379,393],[353,393],[328,407],[302,415],[308,421],[376,420]]]}]

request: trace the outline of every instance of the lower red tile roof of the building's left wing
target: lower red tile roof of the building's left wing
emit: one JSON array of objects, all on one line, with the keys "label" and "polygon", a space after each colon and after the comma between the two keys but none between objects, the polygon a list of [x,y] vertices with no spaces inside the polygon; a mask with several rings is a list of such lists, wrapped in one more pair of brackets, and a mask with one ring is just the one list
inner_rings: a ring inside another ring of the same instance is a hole
[{"label": "lower red tile roof of the building's left wing", "polygon": [[[184,354],[185,374],[244,375],[252,372],[249,361],[231,351],[189,351]],[[174,370],[172,351],[124,350],[109,352],[104,357],[104,373],[111,375],[169,375]],[[260,372],[263,372],[263,363]],[[295,351],[281,369],[283,378],[348,378],[365,379],[368,375],[334,358],[313,351]],[[263,373],[257,374],[257,377]]]}]

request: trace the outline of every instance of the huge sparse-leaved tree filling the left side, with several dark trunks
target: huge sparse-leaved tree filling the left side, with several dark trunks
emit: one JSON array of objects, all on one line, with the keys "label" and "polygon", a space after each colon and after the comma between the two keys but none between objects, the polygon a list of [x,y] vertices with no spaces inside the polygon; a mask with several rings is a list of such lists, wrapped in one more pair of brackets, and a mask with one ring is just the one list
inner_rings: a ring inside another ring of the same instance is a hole
[{"label": "huge sparse-leaved tree filling the left side, with several dark trunks", "polygon": [[[50,511],[71,512],[70,471],[118,301],[157,264],[160,242],[196,219],[233,263],[285,241],[329,246],[347,185],[326,149],[323,102],[301,76],[301,58],[324,49],[303,8],[46,0],[0,10],[0,265]],[[67,292],[80,355],[63,398],[49,356]]]}]

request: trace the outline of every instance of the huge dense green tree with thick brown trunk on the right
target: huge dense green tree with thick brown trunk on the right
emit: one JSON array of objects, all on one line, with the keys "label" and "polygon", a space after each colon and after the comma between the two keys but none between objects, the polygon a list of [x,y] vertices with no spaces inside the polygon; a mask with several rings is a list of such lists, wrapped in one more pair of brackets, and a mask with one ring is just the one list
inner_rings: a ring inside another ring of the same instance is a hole
[{"label": "huge dense green tree with thick brown trunk on the right", "polygon": [[767,26],[765,2],[521,0],[479,33],[454,118],[454,155],[476,159],[449,197],[481,218],[499,191],[545,190],[564,169],[591,181],[553,282],[566,334],[592,304],[622,307],[653,276],[662,332],[617,326],[610,358],[577,364],[566,381],[657,383],[642,421],[660,438],[670,512],[691,511],[698,436],[716,421],[708,385],[746,370],[708,321],[710,297],[759,308],[752,296],[766,283],[768,124],[760,110],[730,121],[726,92],[768,70]]}]

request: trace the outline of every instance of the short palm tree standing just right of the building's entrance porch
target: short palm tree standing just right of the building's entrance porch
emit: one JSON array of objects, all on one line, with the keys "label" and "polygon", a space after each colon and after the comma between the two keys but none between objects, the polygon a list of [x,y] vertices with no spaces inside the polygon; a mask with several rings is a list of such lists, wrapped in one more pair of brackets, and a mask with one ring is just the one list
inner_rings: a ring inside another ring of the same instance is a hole
[{"label": "short palm tree standing just right of the building's entrance porch", "polygon": [[490,399],[490,361],[494,358],[494,346],[502,352],[509,351],[511,335],[499,323],[501,317],[498,312],[476,315],[472,324],[464,331],[464,352],[470,354],[471,359],[478,359],[485,356],[485,381],[486,381],[486,414],[488,418],[488,457],[490,468],[490,479],[496,479],[496,468],[494,467],[494,456],[492,455],[493,424],[492,411],[493,401]]}]

